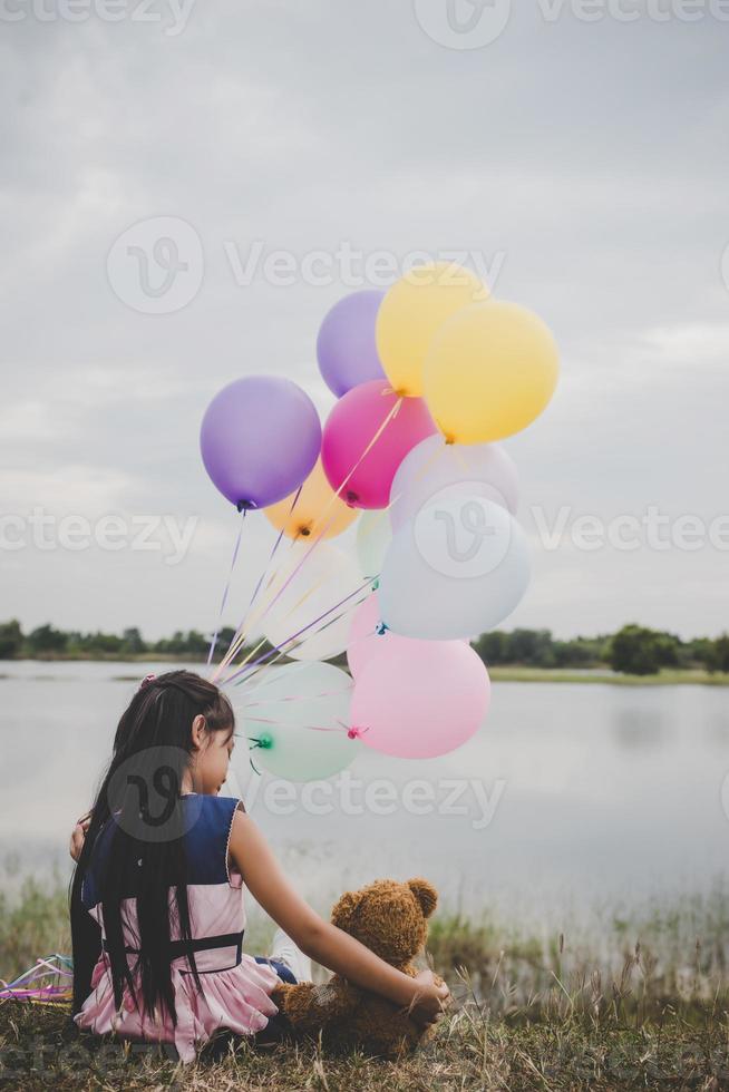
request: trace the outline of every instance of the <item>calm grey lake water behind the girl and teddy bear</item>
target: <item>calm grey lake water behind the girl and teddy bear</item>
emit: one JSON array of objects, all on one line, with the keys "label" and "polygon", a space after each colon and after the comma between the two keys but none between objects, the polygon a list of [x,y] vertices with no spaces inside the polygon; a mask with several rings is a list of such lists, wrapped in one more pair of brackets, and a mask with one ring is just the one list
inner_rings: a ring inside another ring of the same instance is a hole
[{"label": "calm grey lake water behind the girl and teddy bear", "polygon": [[[2,665],[0,857],[68,870],[130,680],[157,666]],[[728,871],[721,688],[496,683],[487,724],[459,751],[407,762],[366,750],[346,783],[309,798],[255,774],[242,744],[231,792],[321,908],[343,887],[420,874],[454,908],[544,922],[706,891]]]}]

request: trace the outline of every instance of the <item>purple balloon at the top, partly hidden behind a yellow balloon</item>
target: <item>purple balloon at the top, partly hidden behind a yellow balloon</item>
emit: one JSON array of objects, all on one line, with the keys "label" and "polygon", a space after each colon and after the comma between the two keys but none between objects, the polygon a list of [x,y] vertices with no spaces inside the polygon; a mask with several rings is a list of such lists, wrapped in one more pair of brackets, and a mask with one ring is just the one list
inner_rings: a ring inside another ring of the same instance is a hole
[{"label": "purple balloon at the top, partly hidden behind a yellow balloon", "polygon": [[375,322],[385,292],[352,292],[327,313],[317,339],[319,370],[330,391],[341,398],[370,379],[385,379],[375,342]]}]

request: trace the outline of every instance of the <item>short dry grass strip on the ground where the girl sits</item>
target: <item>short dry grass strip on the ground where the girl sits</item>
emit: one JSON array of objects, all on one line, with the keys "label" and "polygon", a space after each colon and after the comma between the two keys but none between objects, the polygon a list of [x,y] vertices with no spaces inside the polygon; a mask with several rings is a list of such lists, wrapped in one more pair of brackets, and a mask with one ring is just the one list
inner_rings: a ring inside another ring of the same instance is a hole
[{"label": "short dry grass strip on the ground where the girl sits", "polygon": [[667,1010],[658,1023],[587,1020],[553,1012],[540,1021],[493,1017],[475,1002],[445,1017],[436,1039],[401,1062],[337,1057],[311,1045],[254,1049],[182,1066],[152,1047],[76,1036],[68,1017],[17,1003],[0,1006],[0,1082],[33,1090],[91,1089],[590,1089],[717,1090],[729,1084],[726,1014],[687,1023]]}]

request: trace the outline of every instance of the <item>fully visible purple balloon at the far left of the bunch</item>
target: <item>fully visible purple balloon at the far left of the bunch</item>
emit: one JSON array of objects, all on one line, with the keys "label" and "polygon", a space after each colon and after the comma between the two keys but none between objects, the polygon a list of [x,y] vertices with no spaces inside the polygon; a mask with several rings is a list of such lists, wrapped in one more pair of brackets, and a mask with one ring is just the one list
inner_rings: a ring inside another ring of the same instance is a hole
[{"label": "fully visible purple balloon at the far left of the bunch", "polygon": [[319,415],[289,379],[236,379],[205,410],[200,449],[224,497],[239,509],[265,508],[313,470],[321,449]]}]

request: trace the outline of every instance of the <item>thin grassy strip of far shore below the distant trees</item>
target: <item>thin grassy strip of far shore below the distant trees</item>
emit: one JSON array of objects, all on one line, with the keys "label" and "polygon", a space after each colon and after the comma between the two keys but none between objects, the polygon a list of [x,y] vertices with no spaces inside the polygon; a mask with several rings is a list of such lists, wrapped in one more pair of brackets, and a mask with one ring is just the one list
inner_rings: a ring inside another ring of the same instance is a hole
[{"label": "thin grassy strip of far shore below the distant trees", "polygon": [[[3,664],[12,663],[187,663],[194,661],[189,654],[119,656],[101,653],[94,656],[48,655],[22,656],[0,661],[0,677]],[[548,682],[548,683],[602,683],[609,686],[729,686],[729,673],[709,672],[700,667],[665,667],[652,675],[628,675],[610,669],[587,667],[528,667],[524,664],[495,664],[488,669],[493,682]],[[4,675],[4,677],[8,677]]]}]

